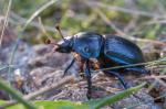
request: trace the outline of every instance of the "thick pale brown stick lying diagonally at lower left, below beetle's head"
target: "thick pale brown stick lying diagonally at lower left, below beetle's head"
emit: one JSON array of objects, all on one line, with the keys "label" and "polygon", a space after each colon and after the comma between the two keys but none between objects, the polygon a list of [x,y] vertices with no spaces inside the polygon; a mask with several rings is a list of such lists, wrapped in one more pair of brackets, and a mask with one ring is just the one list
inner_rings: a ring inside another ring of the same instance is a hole
[{"label": "thick pale brown stick lying diagonally at lower left, below beetle's head", "polygon": [[[58,87],[62,87],[63,85],[66,85],[66,84],[69,84],[71,81],[74,81],[74,77],[73,76],[68,76],[68,77],[61,79],[60,81],[58,81],[56,84],[54,84],[52,86],[45,86],[45,87],[39,89],[38,91],[34,91],[34,92],[31,92],[31,94],[24,96],[23,98],[25,100],[33,99],[33,98],[35,98],[35,97],[38,97],[40,95],[43,95],[44,92],[48,92],[48,91],[50,91],[50,90],[52,90],[54,88],[58,88]],[[15,103],[18,103],[18,102],[17,101],[9,101],[4,106],[2,106],[2,108],[4,109],[4,108],[13,106]]]}]

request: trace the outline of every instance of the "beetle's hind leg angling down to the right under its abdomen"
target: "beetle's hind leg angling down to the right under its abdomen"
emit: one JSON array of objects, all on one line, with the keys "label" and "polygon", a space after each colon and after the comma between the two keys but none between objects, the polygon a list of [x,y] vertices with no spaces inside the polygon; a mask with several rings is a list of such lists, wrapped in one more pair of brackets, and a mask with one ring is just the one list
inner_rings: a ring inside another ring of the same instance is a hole
[{"label": "beetle's hind leg angling down to the right under its abdomen", "polygon": [[120,75],[118,73],[112,72],[112,70],[105,70],[105,74],[106,75],[112,74],[112,75],[116,76],[125,89],[129,88],[127,86],[127,83],[124,80],[124,77],[122,75]]}]

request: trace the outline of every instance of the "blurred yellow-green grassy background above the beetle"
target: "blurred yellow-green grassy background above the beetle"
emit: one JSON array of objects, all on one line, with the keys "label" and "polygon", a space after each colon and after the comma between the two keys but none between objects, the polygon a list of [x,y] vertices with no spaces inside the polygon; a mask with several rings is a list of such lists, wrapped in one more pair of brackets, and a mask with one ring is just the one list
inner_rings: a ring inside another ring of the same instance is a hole
[{"label": "blurred yellow-green grassy background above the beetle", "polygon": [[[1,20],[8,4],[8,0],[0,1]],[[28,23],[22,37],[33,43],[45,36],[39,19],[46,33],[56,39],[54,25],[59,23],[65,35],[96,31],[162,40],[166,35],[165,11],[165,0],[13,0],[9,26],[18,32]]]}]

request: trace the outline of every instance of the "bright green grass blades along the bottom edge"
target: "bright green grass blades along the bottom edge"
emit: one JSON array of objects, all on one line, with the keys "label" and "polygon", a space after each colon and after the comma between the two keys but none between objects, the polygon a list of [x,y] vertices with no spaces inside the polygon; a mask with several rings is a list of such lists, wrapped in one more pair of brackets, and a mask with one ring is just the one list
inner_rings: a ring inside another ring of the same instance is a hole
[{"label": "bright green grass blades along the bottom edge", "polygon": [[[65,108],[66,109],[100,109],[101,107],[116,102],[120,99],[125,98],[132,95],[133,92],[138,91],[145,84],[142,84],[137,87],[129,88],[114,96],[100,98],[100,99],[92,99],[85,102],[72,102],[66,100],[59,100],[59,101],[33,101],[33,105],[30,105],[28,101],[20,98],[20,95],[18,95],[17,90],[10,88],[9,86],[6,86],[3,81],[0,81],[0,87],[2,87],[7,92],[11,94],[11,96],[15,100],[18,100],[28,109],[35,109],[34,107],[38,107],[37,109],[65,109]],[[0,101],[0,103],[6,105],[7,101]],[[22,105],[15,105],[6,109],[24,109]]]}]

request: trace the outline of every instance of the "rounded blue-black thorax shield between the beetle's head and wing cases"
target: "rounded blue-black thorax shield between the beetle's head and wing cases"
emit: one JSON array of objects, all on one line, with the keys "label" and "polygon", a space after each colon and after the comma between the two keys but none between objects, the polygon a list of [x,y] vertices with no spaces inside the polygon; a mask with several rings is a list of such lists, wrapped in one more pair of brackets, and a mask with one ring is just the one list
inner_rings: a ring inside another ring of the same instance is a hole
[{"label": "rounded blue-black thorax shield between the beetle's head and wing cases", "polygon": [[94,32],[80,32],[73,39],[73,50],[84,58],[97,58],[102,45],[103,36]]}]

